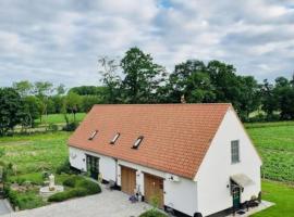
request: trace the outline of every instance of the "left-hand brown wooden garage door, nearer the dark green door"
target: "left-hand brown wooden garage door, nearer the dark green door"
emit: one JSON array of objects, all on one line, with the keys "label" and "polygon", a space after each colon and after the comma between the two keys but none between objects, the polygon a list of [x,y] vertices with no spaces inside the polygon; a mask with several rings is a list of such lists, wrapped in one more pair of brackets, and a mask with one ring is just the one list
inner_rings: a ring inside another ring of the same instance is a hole
[{"label": "left-hand brown wooden garage door, nearer the dark green door", "polygon": [[121,166],[121,188],[122,191],[133,195],[136,188],[136,170]]}]

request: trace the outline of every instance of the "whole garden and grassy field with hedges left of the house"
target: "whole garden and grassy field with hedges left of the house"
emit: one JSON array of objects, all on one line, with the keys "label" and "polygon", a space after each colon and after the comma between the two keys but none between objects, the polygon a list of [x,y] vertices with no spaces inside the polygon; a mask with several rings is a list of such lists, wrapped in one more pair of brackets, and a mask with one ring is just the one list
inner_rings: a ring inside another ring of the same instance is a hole
[{"label": "whole garden and grassy field with hedges left of the house", "polygon": [[[70,169],[68,138],[68,132],[47,132],[0,139],[4,196],[14,209],[36,208],[101,192],[99,184]],[[41,196],[39,190],[48,186],[51,174],[64,191]]]}]

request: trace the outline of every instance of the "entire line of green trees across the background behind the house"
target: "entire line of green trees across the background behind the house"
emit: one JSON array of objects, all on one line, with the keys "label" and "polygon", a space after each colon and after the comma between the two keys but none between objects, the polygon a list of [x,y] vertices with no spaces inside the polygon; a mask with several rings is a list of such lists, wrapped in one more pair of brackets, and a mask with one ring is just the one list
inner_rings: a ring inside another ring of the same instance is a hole
[{"label": "entire line of green trees across the background behind the house", "polygon": [[[258,82],[216,60],[187,60],[168,72],[138,48],[127,50],[121,60],[100,58],[98,64],[101,86],[66,90],[64,85],[22,80],[0,88],[0,135],[16,125],[34,127],[37,118],[42,122],[56,113],[63,114],[70,126],[77,112],[88,112],[94,104],[180,103],[181,98],[187,103],[230,102],[244,122],[294,119],[294,76]],[[254,112],[258,115],[250,117]]]}]

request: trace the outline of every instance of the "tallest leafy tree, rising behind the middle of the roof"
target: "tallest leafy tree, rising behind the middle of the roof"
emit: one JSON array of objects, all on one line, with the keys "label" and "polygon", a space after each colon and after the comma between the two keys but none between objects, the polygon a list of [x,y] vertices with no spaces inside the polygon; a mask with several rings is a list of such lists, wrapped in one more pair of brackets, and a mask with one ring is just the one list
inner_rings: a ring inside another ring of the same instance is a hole
[{"label": "tallest leafy tree, rising behind the middle of the roof", "polygon": [[157,88],[162,82],[166,69],[154,63],[150,54],[131,48],[121,60],[124,79],[121,90],[125,103],[156,102]]}]

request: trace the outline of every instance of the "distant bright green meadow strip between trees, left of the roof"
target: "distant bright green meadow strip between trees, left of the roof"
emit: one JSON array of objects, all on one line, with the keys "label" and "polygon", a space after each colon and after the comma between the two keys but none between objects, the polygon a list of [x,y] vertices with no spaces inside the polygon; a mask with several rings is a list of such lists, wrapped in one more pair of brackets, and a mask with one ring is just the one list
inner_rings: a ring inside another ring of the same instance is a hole
[{"label": "distant bright green meadow strip between trees, left of the roof", "polygon": [[[86,113],[76,113],[75,118],[76,122],[82,122],[84,117],[86,116]],[[72,114],[69,114],[68,117],[71,122],[73,122],[74,117]],[[63,114],[49,114],[47,116],[42,116],[42,122],[40,123],[40,119],[35,120],[36,124],[63,124],[65,123]]]}]

